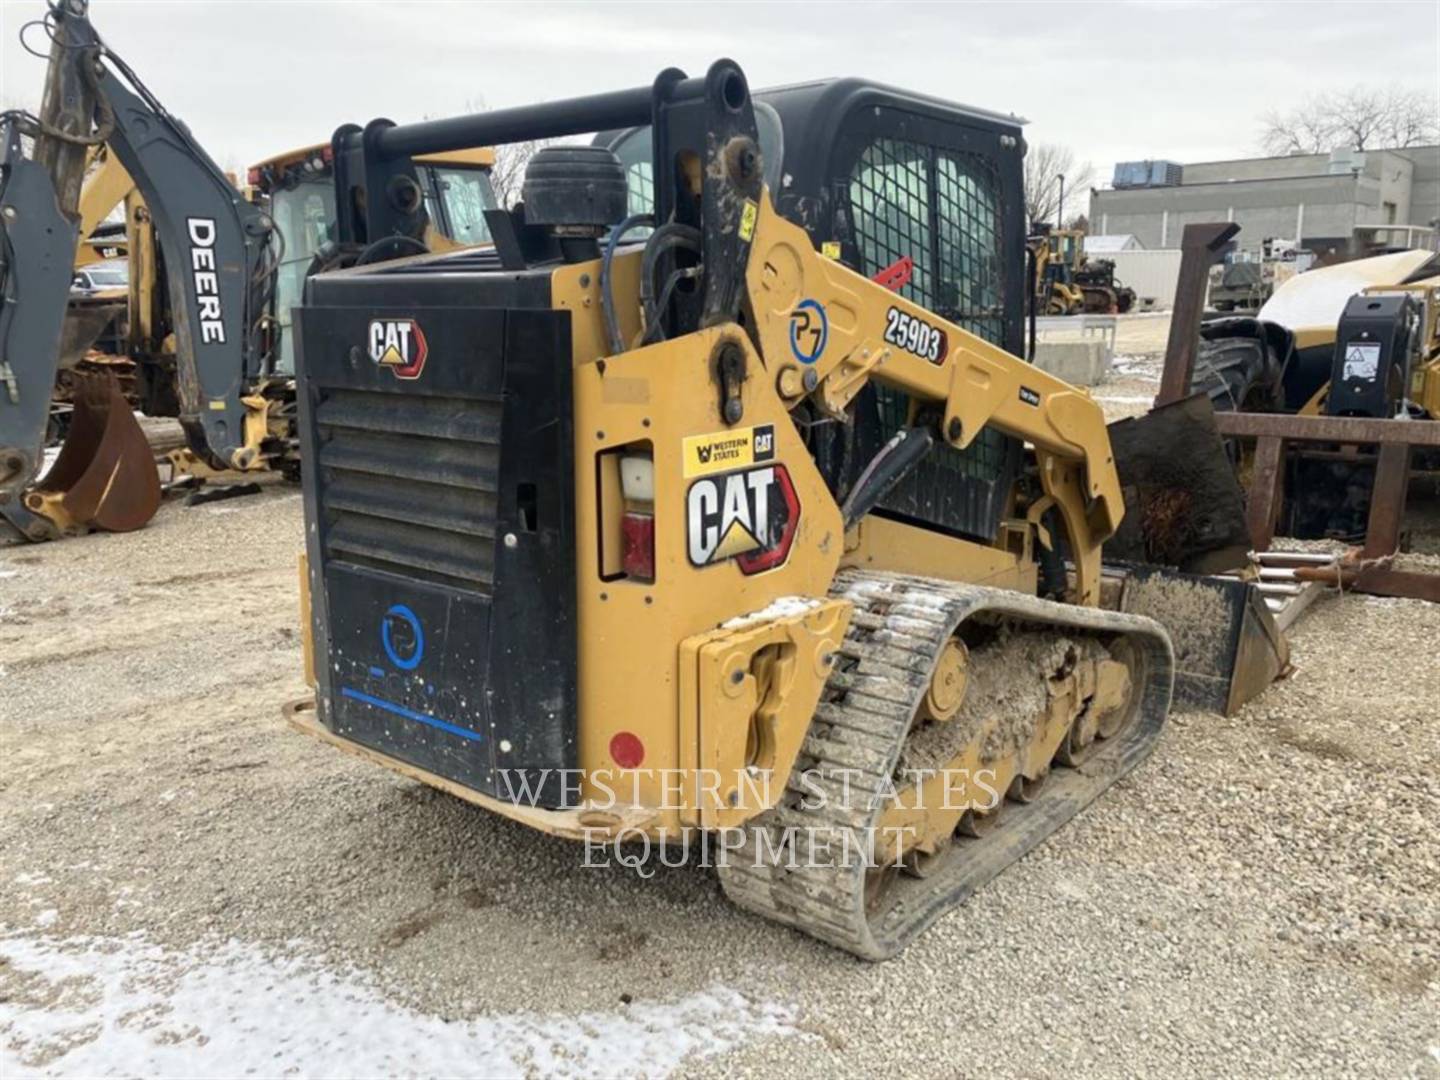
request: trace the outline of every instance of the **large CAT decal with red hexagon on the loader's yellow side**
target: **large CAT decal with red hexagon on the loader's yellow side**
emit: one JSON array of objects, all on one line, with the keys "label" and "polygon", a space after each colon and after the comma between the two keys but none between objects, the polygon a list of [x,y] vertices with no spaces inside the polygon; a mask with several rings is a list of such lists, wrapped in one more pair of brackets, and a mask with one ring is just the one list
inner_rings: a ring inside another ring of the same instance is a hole
[{"label": "large CAT decal with red hexagon on the loader's yellow side", "polygon": [[801,521],[801,501],[783,465],[701,477],[685,494],[691,566],[734,560],[752,575],[780,566]]}]

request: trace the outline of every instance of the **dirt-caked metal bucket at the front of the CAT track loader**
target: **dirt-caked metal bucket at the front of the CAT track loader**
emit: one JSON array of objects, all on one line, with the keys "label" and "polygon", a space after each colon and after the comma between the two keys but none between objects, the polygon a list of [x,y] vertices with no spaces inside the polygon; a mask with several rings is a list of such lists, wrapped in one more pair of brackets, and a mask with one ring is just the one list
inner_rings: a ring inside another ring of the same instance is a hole
[{"label": "dirt-caked metal bucket at the front of the CAT track loader", "polygon": [[1231,716],[1290,665],[1290,644],[1264,598],[1238,577],[1135,567],[1120,589],[1120,611],[1169,631],[1181,708]]}]

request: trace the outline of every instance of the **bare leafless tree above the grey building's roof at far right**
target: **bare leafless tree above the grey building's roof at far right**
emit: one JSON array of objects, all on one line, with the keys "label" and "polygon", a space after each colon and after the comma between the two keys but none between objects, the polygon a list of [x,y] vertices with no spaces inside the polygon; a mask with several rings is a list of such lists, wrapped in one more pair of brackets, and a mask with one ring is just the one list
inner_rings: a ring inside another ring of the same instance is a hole
[{"label": "bare leafless tree above the grey building's roof at far right", "polygon": [[1440,137],[1436,102],[1421,91],[1351,86],[1318,94],[1289,111],[1261,118],[1260,145],[1269,154],[1413,147]]}]

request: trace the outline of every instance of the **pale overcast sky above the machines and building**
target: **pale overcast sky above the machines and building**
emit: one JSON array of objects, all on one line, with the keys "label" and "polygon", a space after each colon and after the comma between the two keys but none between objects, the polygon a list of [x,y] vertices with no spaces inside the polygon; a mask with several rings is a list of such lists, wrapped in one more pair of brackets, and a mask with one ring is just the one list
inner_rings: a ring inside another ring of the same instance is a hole
[{"label": "pale overcast sky above the machines and building", "polygon": [[[43,3],[0,0],[0,95],[39,102],[19,45]],[[360,3],[94,0],[105,42],[226,167],[340,122],[648,85],[719,56],[752,86],[874,79],[1015,112],[1109,180],[1117,160],[1257,151],[1259,117],[1325,86],[1440,102],[1440,0],[1414,3]],[[43,36],[33,40],[43,45]],[[1440,104],[1437,104],[1440,108]]]}]

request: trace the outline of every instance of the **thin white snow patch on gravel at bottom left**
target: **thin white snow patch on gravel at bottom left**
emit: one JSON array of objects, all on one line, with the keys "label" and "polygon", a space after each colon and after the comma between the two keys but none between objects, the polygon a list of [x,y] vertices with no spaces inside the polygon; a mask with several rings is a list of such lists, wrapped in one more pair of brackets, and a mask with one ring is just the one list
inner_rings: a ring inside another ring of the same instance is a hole
[{"label": "thin white snow patch on gravel at bottom left", "polygon": [[795,1012],[711,986],[618,1012],[444,1018],[389,1001],[360,972],[226,942],[0,939],[19,992],[0,1002],[0,1076],[667,1076]]}]

